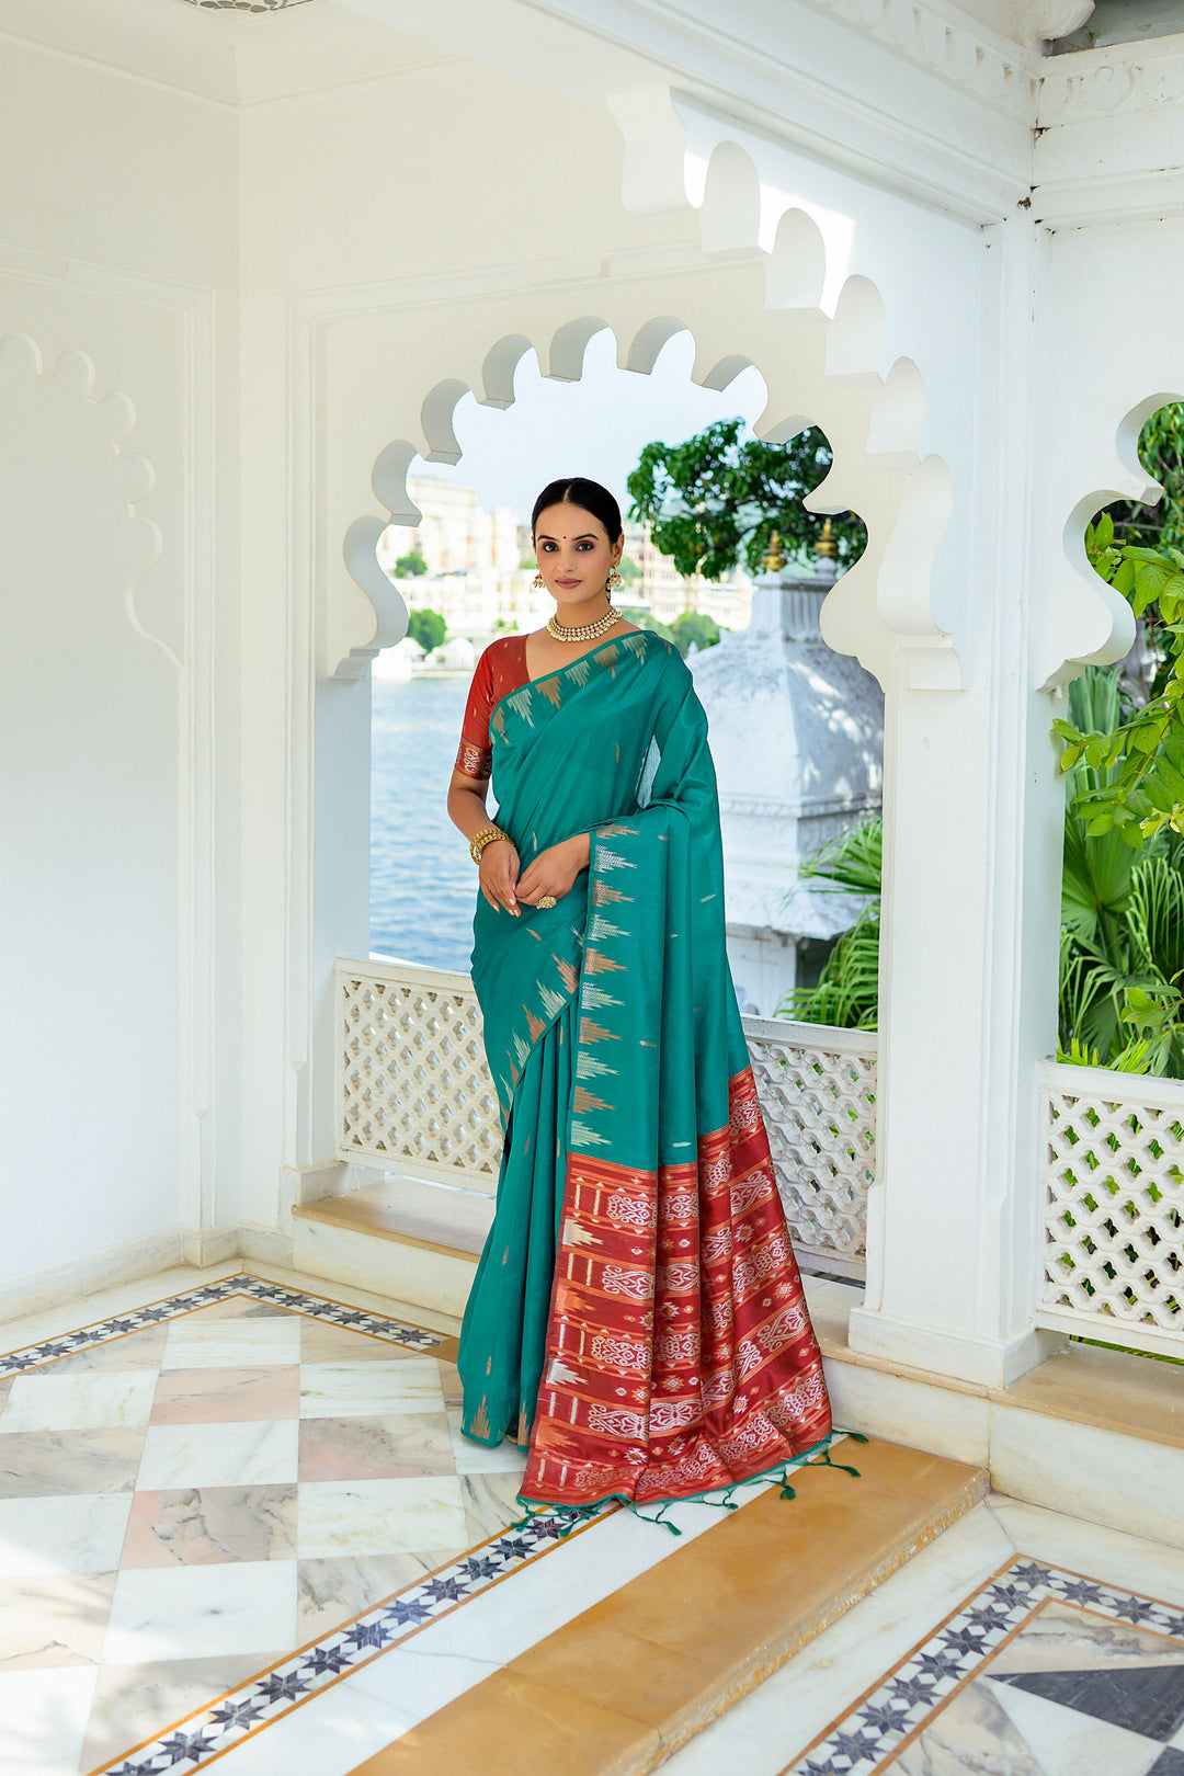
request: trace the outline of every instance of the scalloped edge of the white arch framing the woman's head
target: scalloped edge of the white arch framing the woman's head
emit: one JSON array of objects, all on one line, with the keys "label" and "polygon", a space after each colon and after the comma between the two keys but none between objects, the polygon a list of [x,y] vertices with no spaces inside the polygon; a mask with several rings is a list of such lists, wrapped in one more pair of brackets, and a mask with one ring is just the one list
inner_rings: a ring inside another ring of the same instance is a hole
[{"label": "scalloped edge of the white arch framing the woman's head", "polygon": [[[735,160],[724,170],[738,178]],[[779,302],[772,311],[762,305],[762,316],[774,320],[777,332],[772,350],[730,348],[728,334],[740,336],[744,329],[731,329],[726,314],[712,321],[669,311],[646,316],[637,311],[635,291],[611,289],[598,313],[570,314],[536,339],[525,330],[506,332],[483,348],[479,373],[433,382],[419,408],[419,437],[394,439],[375,464],[373,490],[389,519],[362,517],[346,533],[346,567],[369,599],[373,622],[364,636],[341,634],[339,627],[330,673],[359,677],[367,659],[407,632],[403,600],[378,568],[375,543],[387,522],[414,524],[419,515],[407,494],[407,471],[417,455],[460,460],[454,410],[463,394],[508,407],[515,368],[531,348],[545,375],[579,380],[589,339],[605,329],[618,341],[618,362],[650,373],[667,339],[687,330],[696,343],[694,382],[724,389],[749,364],[762,371],[769,403],[756,423],[760,437],[785,442],[815,423],[831,440],[834,462],[806,504],[820,515],[857,511],[868,526],[868,549],[827,595],[822,630],[829,645],[854,654],[884,686],[902,652],[914,687],[960,689],[953,634],[937,623],[930,602],[934,556],[950,515],[950,474],[939,456],[918,456],[925,414],[921,373],[907,359],[898,359],[888,377],[877,371],[884,305],[866,277],[847,279],[833,316],[813,304],[825,275],[820,243],[817,222],[804,215],[781,218],[774,229]],[[804,279],[797,284],[790,266],[795,250],[804,254]],[[795,291],[799,305],[790,307]]]}]

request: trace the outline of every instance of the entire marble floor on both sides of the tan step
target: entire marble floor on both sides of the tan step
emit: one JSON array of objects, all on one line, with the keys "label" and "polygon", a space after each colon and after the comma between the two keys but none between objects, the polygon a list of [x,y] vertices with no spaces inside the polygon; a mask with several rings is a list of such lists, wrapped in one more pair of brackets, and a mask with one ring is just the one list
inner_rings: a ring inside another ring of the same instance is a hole
[{"label": "entire marble floor on both sides of the tan step", "polygon": [[[678,1538],[520,1524],[518,1453],[458,1435],[454,1325],[259,1270],[11,1328],[5,1776],[419,1772],[407,1748],[525,1648],[728,1545],[710,1504]],[[1184,1776],[1184,1552],[991,1495],[660,1767]]]}]

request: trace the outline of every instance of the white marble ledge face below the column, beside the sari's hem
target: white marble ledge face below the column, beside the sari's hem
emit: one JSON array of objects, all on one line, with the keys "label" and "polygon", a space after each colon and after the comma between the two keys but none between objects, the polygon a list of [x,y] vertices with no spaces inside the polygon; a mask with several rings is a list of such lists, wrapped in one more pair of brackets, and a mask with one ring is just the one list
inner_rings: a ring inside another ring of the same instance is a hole
[{"label": "white marble ledge face below the column, beside the sari's hem", "polygon": [[[840,1284],[834,1284],[840,1288]],[[987,1465],[991,1401],[854,1362],[822,1364],[834,1423],[951,1462]]]}]

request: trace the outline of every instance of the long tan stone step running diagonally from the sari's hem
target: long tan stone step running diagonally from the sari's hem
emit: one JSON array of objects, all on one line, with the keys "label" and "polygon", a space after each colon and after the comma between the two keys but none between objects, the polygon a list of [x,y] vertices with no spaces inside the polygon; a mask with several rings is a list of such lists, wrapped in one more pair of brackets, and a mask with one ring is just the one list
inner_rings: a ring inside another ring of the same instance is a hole
[{"label": "long tan stone step running diagonally from the sari's hem", "polygon": [[657,1769],[989,1490],[983,1469],[888,1442],[834,1460],[861,1478],[815,1463],[793,1501],[772,1488],[721,1513],[351,1776]]}]

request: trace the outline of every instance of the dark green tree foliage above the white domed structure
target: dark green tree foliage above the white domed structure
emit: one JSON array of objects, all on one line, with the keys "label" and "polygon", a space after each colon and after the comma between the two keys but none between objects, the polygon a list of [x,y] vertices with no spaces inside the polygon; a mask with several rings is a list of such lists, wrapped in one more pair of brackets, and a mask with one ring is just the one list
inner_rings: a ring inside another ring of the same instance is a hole
[{"label": "dark green tree foliage above the white domed structure", "polygon": [[[717,419],[685,444],[646,444],[625,485],[630,517],[653,524],[653,542],[680,574],[721,579],[744,565],[760,574],[774,531],[786,554],[808,556],[822,520],[802,506],[831,467],[818,426],[788,444],[740,442],[742,419]],[[849,565],[868,533],[854,513],[833,517],[838,561]]]}]

